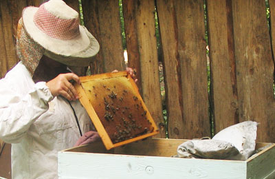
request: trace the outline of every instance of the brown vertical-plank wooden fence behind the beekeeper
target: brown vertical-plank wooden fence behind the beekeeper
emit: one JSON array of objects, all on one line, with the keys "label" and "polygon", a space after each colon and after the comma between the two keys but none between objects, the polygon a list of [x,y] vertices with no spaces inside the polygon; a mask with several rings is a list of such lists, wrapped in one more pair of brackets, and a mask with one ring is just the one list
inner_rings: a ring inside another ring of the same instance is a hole
[{"label": "brown vertical-plank wooden fence behind the beekeeper", "polygon": [[[0,1],[0,74],[17,62],[17,22],[25,6],[42,0]],[[67,0],[78,10],[78,0]],[[123,0],[129,67],[164,138],[159,59],[164,67],[169,138],[201,138],[245,120],[260,123],[258,140],[275,142],[275,0],[206,1],[210,54],[210,93],[203,0]],[[118,0],[82,0],[85,26],[100,42],[92,73],[124,70]],[[159,25],[159,49],[155,31]],[[160,53],[159,53],[160,52]],[[209,106],[210,109],[209,110]],[[211,112],[213,120],[209,113]],[[212,121],[212,123],[211,123]]]}]

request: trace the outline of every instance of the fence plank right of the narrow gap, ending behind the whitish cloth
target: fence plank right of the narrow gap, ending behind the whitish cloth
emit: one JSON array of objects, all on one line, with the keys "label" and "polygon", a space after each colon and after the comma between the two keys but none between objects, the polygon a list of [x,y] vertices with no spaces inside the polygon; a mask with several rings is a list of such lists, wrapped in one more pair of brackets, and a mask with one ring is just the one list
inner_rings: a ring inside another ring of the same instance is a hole
[{"label": "fence plank right of the narrow gap, ending behind the whitish cloth", "polygon": [[[207,1],[214,131],[239,123],[232,1]],[[217,16],[217,14],[219,14]]]}]

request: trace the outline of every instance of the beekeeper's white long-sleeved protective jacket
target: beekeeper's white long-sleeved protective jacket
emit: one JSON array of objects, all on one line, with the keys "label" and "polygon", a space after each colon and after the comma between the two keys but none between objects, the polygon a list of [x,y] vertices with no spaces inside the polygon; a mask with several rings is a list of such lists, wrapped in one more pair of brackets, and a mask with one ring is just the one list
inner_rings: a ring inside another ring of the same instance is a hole
[{"label": "beekeeper's white long-sleeved protective jacket", "polygon": [[[79,101],[71,103],[84,134],[91,120]],[[21,62],[0,80],[0,138],[12,143],[12,178],[58,178],[58,151],[79,137],[69,103],[45,82],[34,83]]]}]

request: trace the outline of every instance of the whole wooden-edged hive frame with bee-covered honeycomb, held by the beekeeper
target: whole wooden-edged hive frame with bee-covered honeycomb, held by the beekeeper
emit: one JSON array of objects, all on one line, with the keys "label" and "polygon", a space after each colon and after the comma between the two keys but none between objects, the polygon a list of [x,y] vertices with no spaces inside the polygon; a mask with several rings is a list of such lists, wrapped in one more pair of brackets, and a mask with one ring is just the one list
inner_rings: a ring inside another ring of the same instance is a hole
[{"label": "whole wooden-edged hive frame with bee-covered honeycomb, held by the beekeeper", "polygon": [[83,76],[75,87],[106,149],[159,133],[126,71]]}]

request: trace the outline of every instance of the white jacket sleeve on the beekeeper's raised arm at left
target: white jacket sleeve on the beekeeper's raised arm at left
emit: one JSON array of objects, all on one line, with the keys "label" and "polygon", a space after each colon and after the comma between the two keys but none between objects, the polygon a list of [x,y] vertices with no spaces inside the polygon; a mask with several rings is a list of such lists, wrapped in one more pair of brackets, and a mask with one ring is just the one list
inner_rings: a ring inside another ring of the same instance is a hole
[{"label": "white jacket sleeve on the beekeeper's raised arm at left", "polygon": [[25,95],[16,91],[7,87],[5,79],[0,81],[0,138],[6,143],[19,143],[54,98],[45,82],[36,83]]}]

